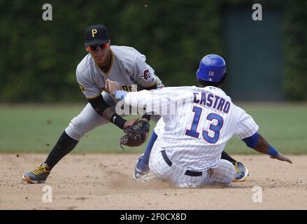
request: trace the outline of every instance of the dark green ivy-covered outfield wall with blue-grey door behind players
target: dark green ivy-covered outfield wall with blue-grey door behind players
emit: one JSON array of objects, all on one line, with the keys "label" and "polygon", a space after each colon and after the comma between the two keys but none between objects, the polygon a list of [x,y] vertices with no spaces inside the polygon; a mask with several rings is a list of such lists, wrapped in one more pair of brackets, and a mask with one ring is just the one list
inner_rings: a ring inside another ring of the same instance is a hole
[{"label": "dark green ivy-covered outfield wall with blue-grey door behind players", "polygon": [[145,54],[166,86],[197,84],[199,61],[216,53],[233,99],[307,99],[307,1],[48,1],[52,21],[44,3],[0,1],[0,102],[85,102],[75,71],[96,23]]}]

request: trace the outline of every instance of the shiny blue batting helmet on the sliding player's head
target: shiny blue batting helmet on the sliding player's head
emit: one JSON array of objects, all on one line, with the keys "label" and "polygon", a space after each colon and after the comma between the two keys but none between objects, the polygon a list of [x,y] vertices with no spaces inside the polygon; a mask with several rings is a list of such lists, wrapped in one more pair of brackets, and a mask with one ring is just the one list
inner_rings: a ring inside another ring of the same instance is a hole
[{"label": "shiny blue batting helmet on the sliding player's head", "polygon": [[218,83],[226,73],[226,62],[219,55],[206,55],[201,59],[197,79]]}]

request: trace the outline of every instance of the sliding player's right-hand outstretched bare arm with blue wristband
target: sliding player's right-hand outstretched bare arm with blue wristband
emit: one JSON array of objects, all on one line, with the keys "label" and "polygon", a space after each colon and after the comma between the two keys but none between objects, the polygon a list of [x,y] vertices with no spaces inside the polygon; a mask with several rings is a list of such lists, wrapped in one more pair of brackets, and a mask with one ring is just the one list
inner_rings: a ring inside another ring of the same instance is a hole
[{"label": "sliding player's right-hand outstretched bare arm with blue wristband", "polygon": [[255,151],[259,153],[264,153],[267,155],[270,155],[272,159],[277,159],[280,161],[286,161],[292,163],[292,160],[289,158],[285,157],[285,155],[281,154],[278,152],[273,146],[271,146],[265,139],[262,137],[261,134],[258,132],[252,135],[252,137],[248,137],[246,139],[243,139],[245,141],[245,144],[250,147],[255,149]]}]

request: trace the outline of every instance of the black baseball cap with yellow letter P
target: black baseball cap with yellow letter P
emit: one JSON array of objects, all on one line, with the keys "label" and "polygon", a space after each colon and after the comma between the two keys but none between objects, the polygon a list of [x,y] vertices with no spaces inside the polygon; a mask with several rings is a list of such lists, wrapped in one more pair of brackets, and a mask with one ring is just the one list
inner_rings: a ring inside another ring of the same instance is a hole
[{"label": "black baseball cap with yellow letter P", "polygon": [[85,47],[108,43],[108,30],[103,25],[91,25],[85,29]]}]

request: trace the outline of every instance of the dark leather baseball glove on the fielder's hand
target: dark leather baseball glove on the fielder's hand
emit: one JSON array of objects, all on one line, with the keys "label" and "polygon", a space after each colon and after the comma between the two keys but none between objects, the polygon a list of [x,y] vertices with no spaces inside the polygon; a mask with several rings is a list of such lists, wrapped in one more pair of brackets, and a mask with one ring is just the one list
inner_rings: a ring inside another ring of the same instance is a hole
[{"label": "dark leather baseball glove on the fielder's hand", "polygon": [[146,141],[149,130],[149,123],[137,120],[133,125],[124,128],[125,135],[120,138],[120,146],[141,146]]}]

